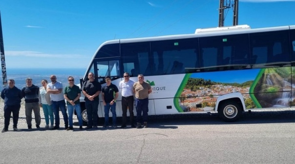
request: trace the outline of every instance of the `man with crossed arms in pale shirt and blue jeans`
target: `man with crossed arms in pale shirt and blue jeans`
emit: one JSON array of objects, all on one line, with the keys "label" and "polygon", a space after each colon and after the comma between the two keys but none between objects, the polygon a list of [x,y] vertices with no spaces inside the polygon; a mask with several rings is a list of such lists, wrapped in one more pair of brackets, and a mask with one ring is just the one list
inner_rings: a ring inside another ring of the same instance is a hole
[{"label": "man with crossed arms in pale shirt and blue jeans", "polygon": [[60,128],[60,109],[63,113],[64,128],[68,128],[68,117],[65,109],[65,102],[63,97],[63,84],[59,81],[56,81],[56,75],[50,76],[51,83],[47,84],[46,91],[50,94],[51,107],[53,109],[55,126],[53,130]]}]

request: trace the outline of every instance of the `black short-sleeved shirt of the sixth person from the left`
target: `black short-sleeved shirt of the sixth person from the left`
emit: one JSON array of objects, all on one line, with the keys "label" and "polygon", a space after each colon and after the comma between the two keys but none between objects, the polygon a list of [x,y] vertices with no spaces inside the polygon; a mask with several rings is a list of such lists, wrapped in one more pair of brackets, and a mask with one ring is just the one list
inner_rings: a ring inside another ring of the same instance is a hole
[{"label": "black short-sleeved shirt of the sixth person from the left", "polygon": [[[102,85],[98,81],[86,81],[82,87],[82,91],[85,91],[90,96],[94,95],[97,91],[102,91]],[[89,101],[87,97],[85,101]],[[99,101],[99,96],[94,97],[94,100]]]}]

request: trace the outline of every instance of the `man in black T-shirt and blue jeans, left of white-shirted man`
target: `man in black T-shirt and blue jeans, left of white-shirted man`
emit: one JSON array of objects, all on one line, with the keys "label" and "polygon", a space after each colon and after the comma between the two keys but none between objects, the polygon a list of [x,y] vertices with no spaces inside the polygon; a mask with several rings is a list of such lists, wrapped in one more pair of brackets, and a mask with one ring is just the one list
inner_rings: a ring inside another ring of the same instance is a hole
[{"label": "man in black T-shirt and blue jeans, left of white-shirted man", "polygon": [[113,117],[113,128],[117,128],[117,114],[116,114],[116,99],[119,95],[117,86],[111,83],[109,76],[105,77],[106,85],[102,90],[102,99],[105,106],[105,125],[103,128],[108,127],[109,109],[111,109]]}]

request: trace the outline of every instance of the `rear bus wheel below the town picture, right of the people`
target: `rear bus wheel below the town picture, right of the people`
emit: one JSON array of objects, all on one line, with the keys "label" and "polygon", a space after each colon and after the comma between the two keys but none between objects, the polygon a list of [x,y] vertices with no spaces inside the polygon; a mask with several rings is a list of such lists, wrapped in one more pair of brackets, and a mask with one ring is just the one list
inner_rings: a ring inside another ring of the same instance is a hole
[{"label": "rear bus wheel below the town picture, right of the people", "polygon": [[242,111],[242,107],[235,101],[225,101],[218,107],[219,117],[227,122],[238,120]]}]

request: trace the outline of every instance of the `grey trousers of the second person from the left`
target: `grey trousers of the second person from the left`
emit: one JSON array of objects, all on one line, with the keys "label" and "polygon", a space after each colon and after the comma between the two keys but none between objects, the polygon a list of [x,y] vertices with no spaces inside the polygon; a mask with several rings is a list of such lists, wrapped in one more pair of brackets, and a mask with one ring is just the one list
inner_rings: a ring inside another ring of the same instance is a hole
[{"label": "grey trousers of the second person from the left", "polygon": [[40,125],[41,116],[40,116],[39,102],[25,103],[24,108],[25,108],[25,119],[27,121],[27,125],[32,126],[32,110],[34,111],[36,125]]}]

